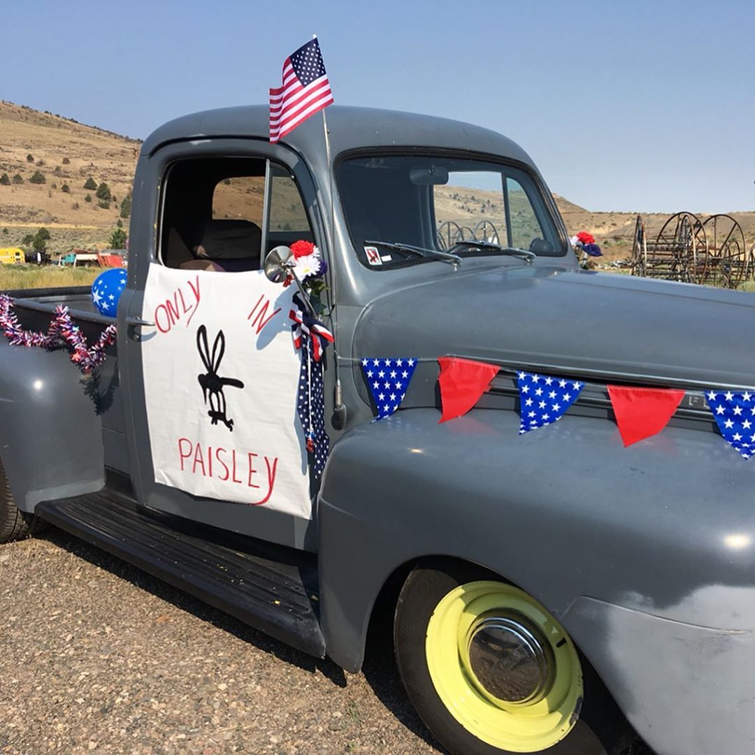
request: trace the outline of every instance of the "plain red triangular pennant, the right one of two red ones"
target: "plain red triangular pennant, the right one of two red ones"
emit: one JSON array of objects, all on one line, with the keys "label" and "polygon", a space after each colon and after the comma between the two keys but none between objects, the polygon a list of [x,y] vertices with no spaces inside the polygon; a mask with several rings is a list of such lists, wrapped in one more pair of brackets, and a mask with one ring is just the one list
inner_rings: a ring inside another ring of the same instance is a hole
[{"label": "plain red triangular pennant, the right one of two red ones", "polygon": [[660,433],[684,398],[683,390],[609,385],[609,396],[624,445]]}]

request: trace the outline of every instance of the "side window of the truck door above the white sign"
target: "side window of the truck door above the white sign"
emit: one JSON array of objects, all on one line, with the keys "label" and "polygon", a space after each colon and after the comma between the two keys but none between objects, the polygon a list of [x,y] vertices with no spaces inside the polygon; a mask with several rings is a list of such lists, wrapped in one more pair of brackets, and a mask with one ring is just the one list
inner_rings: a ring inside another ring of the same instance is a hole
[{"label": "side window of the truck door above the white sign", "polygon": [[[200,158],[168,168],[158,258],[166,267],[223,273],[259,270],[264,254],[313,240],[299,188],[285,168],[261,158]],[[265,211],[269,227],[265,249]]]}]

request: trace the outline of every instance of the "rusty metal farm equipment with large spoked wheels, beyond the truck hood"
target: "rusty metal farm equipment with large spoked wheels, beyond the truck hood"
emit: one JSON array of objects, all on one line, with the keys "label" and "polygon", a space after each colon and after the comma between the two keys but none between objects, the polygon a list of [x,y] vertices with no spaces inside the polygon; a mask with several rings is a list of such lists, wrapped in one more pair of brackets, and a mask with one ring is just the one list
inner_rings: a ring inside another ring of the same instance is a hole
[{"label": "rusty metal farm equipment with large spoked wheels, beyond the truck hood", "polygon": [[692,212],[677,212],[652,240],[637,215],[631,272],[646,278],[737,288],[755,273],[755,246],[747,252],[744,232],[730,215],[701,220]]}]

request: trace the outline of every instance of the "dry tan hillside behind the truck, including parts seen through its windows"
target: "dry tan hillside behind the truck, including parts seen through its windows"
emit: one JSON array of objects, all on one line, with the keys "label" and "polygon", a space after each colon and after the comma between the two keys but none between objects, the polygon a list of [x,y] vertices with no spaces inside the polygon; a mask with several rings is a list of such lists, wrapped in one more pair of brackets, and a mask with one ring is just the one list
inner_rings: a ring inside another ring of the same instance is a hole
[{"label": "dry tan hillside behind the truck, including parts seen through its windows", "polygon": [[[119,220],[121,202],[131,191],[139,149],[137,140],[0,101],[0,178],[8,174],[11,180],[8,186],[0,183],[0,247],[20,245],[23,236],[39,227],[50,231],[48,248],[53,252],[105,247]],[[29,181],[35,171],[42,173],[45,183]],[[13,182],[16,175],[20,183]],[[97,184],[108,184],[115,197],[109,208],[100,207],[94,190],[84,188],[89,177]],[[458,186],[438,186],[436,192],[441,220],[470,228],[481,220],[501,222],[500,193]],[[252,183],[230,186],[225,217],[249,217],[250,212],[261,217],[261,196],[261,186]],[[279,206],[291,214],[292,228],[303,220],[295,199],[290,187],[280,190]],[[593,233],[609,260],[629,255],[636,214],[590,212],[563,197],[555,199],[569,233]],[[755,212],[734,215],[744,228],[747,245],[755,243]],[[525,223],[524,211],[520,217]],[[643,217],[649,238],[655,237],[667,218],[664,214]]]}]

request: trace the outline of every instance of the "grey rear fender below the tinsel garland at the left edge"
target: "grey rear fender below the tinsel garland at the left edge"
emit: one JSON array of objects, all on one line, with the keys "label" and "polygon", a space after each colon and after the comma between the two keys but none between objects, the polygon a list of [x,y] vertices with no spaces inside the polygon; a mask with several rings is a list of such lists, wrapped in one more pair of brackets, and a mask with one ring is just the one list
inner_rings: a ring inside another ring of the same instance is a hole
[{"label": "grey rear fender below the tinsel garland at the left edge", "polygon": [[0,459],[20,510],[102,488],[102,423],[87,380],[65,350],[0,342]]}]

